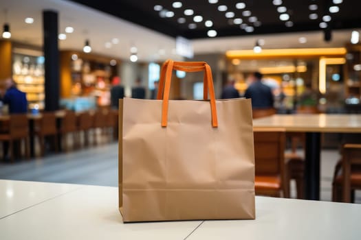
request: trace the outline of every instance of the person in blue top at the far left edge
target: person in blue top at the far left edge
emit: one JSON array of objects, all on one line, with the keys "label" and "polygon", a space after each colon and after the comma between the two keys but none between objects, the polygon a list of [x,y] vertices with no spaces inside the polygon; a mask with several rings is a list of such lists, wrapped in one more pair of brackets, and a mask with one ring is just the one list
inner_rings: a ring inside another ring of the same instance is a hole
[{"label": "person in blue top at the far left edge", "polygon": [[12,78],[5,80],[6,93],[2,97],[3,104],[8,104],[9,113],[26,113],[28,112],[28,100],[26,94],[19,91]]}]

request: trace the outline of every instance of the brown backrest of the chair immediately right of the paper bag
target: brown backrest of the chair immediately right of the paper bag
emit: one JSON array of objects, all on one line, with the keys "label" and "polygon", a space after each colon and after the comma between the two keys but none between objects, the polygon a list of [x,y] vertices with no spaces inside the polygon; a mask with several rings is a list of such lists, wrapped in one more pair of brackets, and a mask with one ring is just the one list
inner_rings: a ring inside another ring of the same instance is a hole
[{"label": "brown backrest of the chair immediately right of the paper bag", "polygon": [[280,176],[285,179],[285,130],[254,130],[256,176]]}]

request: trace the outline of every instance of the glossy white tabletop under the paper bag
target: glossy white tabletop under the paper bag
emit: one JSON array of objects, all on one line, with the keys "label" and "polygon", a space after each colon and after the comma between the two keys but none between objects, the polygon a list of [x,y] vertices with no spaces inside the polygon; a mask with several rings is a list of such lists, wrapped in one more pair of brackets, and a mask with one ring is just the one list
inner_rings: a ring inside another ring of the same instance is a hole
[{"label": "glossy white tabletop under the paper bag", "polygon": [[256,197],[256,220],[123,224],[116,187],[0,180],[0,194],[1,240],[361,239],[358,204]]}]

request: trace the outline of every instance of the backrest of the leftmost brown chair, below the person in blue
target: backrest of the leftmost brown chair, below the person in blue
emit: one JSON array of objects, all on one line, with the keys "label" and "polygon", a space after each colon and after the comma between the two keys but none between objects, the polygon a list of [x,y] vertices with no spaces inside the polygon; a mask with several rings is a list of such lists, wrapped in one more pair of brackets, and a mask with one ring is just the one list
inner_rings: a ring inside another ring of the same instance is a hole
[{"label": "backrest of the leftmost brown chair, below the person in blue", "polygon": [[13,139],[22,139],[28,137],[28,116],[26,114],[10,115],[9,133]]}]

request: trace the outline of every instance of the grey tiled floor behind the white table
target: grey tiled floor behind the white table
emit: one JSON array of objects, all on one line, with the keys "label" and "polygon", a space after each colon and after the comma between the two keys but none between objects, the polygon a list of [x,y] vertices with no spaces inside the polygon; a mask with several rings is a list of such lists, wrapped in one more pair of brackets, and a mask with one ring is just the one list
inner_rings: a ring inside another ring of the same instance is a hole
[{"label": "grey tiled floor behind the white table", "polygon": [[[322,150],[321,200],[331,200],[333,168],[339,158],[338,150]],[[14,164],[0,163],[0,179],[116,187],[118,186],[118,144],[100,145],[67,154],[22,160]],[[356,193],[356,202],[361,203],[360,192]]]}]

